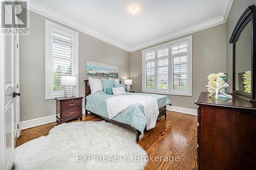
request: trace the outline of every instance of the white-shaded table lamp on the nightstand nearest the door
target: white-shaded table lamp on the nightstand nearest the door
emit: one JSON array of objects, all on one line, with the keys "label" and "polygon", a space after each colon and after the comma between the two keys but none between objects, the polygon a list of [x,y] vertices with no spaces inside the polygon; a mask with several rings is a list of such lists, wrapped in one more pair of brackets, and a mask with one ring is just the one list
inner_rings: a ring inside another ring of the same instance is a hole
[{"label": "white-shaded table lamp on the nightstand nearest the door", "polygon": [[60,76],[60,85],[66,86],[65,95],[66,98],[72,98],[74,95],[73,86],[76,85],[76,77],[75,76]]}]

